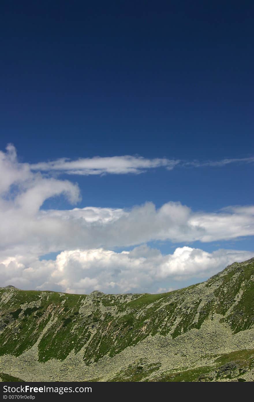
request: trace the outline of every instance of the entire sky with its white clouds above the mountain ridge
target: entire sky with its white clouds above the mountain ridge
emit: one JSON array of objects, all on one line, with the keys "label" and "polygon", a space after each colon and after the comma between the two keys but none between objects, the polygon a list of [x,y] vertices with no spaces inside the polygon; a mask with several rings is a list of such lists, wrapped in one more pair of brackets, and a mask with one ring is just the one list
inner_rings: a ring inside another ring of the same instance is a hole
[{"label": "entire sky with its white clouds above the mountain ridge", "polygon": [[3,1],[0,286],[160,293],[254,257],[250,1]]}]

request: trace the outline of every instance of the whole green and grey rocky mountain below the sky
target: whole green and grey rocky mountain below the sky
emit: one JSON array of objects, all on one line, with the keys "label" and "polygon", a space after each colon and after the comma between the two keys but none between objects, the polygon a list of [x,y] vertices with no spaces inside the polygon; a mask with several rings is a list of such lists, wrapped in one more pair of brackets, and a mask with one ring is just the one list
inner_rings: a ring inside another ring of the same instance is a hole
[{"label": "whole green and grey rocky mountain below the sky", "polygon": [[0,378],[254,381],[254,258],[162,294],[0,288]]}]

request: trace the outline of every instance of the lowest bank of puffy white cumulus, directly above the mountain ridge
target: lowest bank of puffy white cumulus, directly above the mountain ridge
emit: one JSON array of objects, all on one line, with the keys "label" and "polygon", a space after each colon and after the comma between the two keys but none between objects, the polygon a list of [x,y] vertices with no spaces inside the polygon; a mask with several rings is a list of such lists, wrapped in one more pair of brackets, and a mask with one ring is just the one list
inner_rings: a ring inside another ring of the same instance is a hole
[{"label": "lowest bank of puffy white cumulus, directly above the mountain ridge", "polygon": [[[253,254],[239,250],[217,250],[212,253],[191,247],[176,248],[163,255],[146,245],[132,251],[68,250],[55,260],[22,256],[8,258],[0,264],[2,285],[23,289],[90,293],[94,289],[106,293],[145,292],[151,289],[172,290],[171,281],[191,277],[209,277],[228,264],[251,258]],[[160,284],[163,283],[163,287]]]}]

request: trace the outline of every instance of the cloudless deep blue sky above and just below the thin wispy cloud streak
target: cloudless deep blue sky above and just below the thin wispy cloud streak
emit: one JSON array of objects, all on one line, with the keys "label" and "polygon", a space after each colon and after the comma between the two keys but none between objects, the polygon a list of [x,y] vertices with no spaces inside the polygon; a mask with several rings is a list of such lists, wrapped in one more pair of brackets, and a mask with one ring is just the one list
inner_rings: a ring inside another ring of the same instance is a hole
[{"label": "cloudless deep blue sky above and just below the thin wispy cloud streak", "polygon": [[[4,1],[1,149],[30,163],[253,156],[253,12],[251,1]],[[252,203],[252,166],[74,180],[79,207],[216,211]]]}]

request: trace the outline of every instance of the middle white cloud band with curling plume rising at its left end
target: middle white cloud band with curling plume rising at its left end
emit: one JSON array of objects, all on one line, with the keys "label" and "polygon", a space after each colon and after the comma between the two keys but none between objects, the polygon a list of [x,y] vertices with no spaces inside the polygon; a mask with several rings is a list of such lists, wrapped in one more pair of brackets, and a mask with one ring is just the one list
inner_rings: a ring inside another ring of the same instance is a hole
[{"label": "middle white cloud band with curling plume rising at its left end", "polygon": [[78,186],[31,172],[20,164],[13,146],[0,153],[0,256],[42,255],[73,248],[135,246],[152,240],[211,242],[254,235],[254,207],[228,207],[196,213],[179,202],[153,203],[130,210],[85,207],[43,210],[43,202],[65,194],[79,199]]}]

